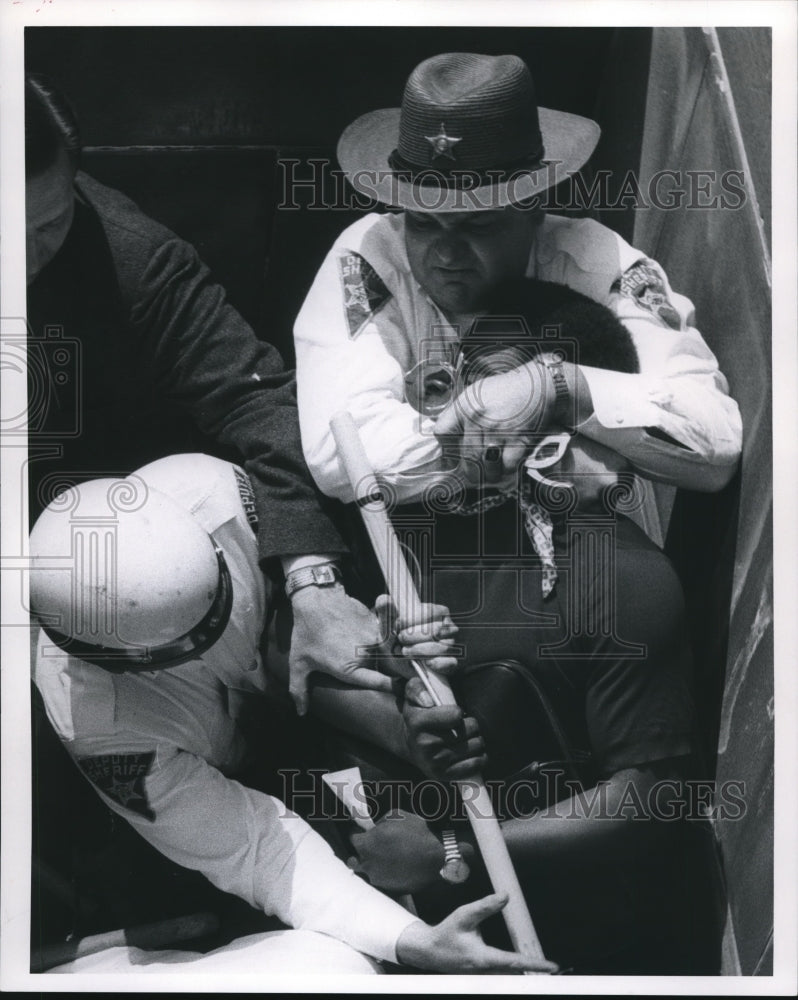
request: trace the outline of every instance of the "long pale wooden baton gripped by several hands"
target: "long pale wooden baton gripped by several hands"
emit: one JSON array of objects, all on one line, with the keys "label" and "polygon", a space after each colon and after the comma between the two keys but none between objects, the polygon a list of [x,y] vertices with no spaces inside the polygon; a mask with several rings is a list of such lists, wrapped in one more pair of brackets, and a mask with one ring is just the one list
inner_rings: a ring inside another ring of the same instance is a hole
[{"label": "long pale wooden baton gripped by several hands", "polygon": [[[421,599],[388,516],[382,488],[369,465],[355,422],[346,411],[337,413],[330,421],[330,430],[338,446],[338,455],[352,484],[355,503],[360,508],[385,577],[388,593],[401,618],[418,620]],[[412,662],[413,668],[436,705],[457,704],[452,689],[444,677],[427,670],[423,664],[415,660]],[[543,960],[543,949],[535,933],[485,783],[481,779],[469,779],[458,781],[457,787],[493,888],[508,897],[502,913],[513,947],[522,955]]]}]

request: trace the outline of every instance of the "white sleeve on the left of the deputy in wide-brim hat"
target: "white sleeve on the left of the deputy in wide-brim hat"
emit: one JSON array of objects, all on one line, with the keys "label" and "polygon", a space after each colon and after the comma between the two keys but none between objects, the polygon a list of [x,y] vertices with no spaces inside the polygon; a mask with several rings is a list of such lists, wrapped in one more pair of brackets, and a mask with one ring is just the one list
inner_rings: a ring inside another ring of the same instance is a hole
[{"label": "white sleeve on the left of the deputy in wide-brim hat", "polygon": [[[405,322],[389,295],[353,334],[340,274],[342,252],[336,245],[328,254],[294,327],[305,460],[324,493],[353,499],[330,432],[331,417],[346,410],[371,467],[396,500],[418,499],[443,473],[434,421],[405,401],[404,372],[413,364]],[[406,361],[404,369],[399,358]]]}]

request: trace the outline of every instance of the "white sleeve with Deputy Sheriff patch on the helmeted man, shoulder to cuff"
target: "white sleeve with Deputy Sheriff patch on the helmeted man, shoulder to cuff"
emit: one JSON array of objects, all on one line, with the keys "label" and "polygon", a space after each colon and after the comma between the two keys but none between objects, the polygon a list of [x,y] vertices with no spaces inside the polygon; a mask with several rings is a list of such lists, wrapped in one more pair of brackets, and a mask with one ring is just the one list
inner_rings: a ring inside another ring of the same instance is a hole
[{"label": "white sleeve with Deputy Sheriff patch on the helmeted man, shoulder to cuff", "polygon": [[148,843],[289,927],[396,961],[396,942],[417,917],[358,878],[284,803],[164,738],[173,731],[212,759],[235,760],[215,689],[151,684],[125,697],[111,674],[53,654],[43,635],[34,669],[48,718],[81,772]]}]

